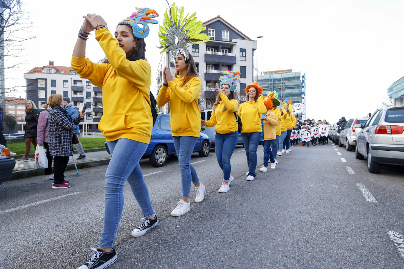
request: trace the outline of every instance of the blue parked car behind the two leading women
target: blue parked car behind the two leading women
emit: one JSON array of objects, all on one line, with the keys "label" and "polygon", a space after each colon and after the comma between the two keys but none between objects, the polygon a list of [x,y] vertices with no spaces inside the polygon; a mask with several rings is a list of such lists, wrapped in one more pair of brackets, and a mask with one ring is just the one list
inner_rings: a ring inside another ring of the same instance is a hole
[{"label": "blue parked car behind the two leading women", "polygon": [[[106,142],[105,147],[109,153]],[[198,152],[201,157],[207,157],[210,148],[210,138],[206,134],[200,133],[193,152]],[[167,157],[175,154],[174,140],[170,129],[170,115],[159,114],[151,131],[150,144],[142,158],[149,158],[154,167],[162,167],[166,163]]]}]

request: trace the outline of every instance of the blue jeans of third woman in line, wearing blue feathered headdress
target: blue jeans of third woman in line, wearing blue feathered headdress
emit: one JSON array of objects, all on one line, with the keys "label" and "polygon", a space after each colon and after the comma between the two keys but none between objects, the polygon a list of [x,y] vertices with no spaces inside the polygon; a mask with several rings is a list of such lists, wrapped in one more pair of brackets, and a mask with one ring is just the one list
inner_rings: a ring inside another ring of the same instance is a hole
[{"label": "blue jeans of third woman in line, wearing blue feathered headdress", "polygon": [[231,165],[230,158],[237,146],[238,131],[232,133],[216,133],[215,152],[217,162],[223,171],[223,181],[229,182]]}]

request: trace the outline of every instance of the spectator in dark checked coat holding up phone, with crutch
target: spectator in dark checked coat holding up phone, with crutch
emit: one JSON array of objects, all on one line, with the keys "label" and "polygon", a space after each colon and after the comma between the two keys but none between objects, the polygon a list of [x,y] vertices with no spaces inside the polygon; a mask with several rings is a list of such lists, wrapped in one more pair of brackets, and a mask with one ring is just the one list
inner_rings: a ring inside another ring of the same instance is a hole
[{"label": "spectator in dark checked coat holding up phone, with crutch", "polygon": [[53,189],[69,188],[70,182],[65,181],[63,172],[69,162],[69,156],[73,155],[72,137],[73,130],[83,120],[84,113],[80,113],[75,119],[71,119],[67,111],[62,107],[61,94],[49,96],[48,104],[52,107],[49,112],[48,144],[51,156],[55,156],[53,163],[54,182]]}]

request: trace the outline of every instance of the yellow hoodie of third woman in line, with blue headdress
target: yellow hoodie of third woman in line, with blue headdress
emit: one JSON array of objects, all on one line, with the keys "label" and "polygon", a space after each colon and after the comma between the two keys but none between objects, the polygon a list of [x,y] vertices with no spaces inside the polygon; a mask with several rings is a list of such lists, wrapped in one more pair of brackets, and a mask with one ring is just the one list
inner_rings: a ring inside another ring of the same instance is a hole
[{"label": "yellow hoodie of third woman in line, with blue headdress", "polygon": [[[221,101],[215,107],[215,110],[212,111],[212,116],[208,121],[204,122],[204,126],[212,127],[215,126],[215,132],[217,133],[232,133],[238,130],[238,123],[236,119],[236,115],[234,112],[238,111],[238,102],[236,99],[227,98],[223,93],[220,95]],[[223,111],[223,107],[226,107],[226,110]],[[237,113],[236,113],[237,114]]]}]

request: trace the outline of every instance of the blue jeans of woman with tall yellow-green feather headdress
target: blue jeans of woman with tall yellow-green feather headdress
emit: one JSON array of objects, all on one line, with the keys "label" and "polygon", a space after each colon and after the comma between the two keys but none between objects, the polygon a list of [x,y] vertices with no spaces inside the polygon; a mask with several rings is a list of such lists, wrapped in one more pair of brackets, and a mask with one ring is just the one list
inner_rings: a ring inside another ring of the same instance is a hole
[{"label": "blue jeans of woman with tall yellow-green feather headdress", "polygon": [[198,138],[193,136],[173,136],[173,139],[181,171],[182,196],[188,197],[189,192],[191,192],[191,181],[194,185],[199,182],[195,168],[191,165],[191,155]]}]

